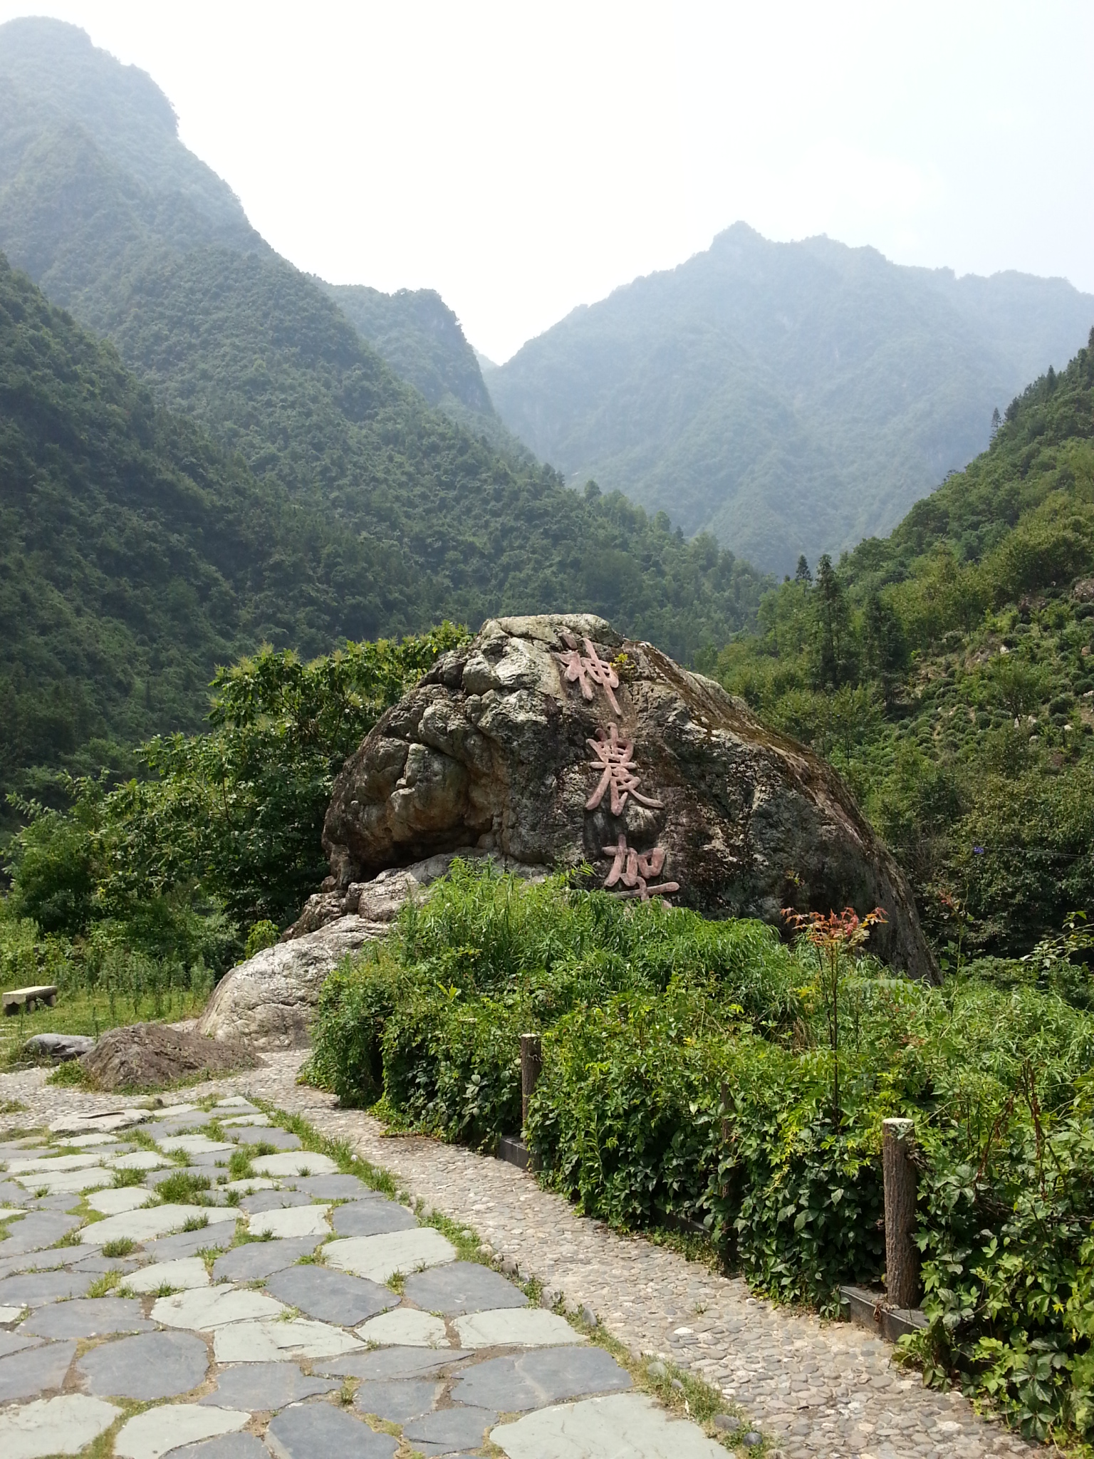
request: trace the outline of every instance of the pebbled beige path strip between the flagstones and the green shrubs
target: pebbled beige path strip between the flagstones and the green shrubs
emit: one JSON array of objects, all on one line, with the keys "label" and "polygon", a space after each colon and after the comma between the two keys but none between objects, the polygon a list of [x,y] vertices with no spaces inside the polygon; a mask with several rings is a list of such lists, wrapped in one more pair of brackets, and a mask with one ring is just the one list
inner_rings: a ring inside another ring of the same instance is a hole
[{"label": "pebbled beige path strip between the flagstones and the green shrubs", "polygon": [[[435,1141],[387,1138],[369,1115],[334,1109],[330,1096],[296,1085],[299,1058],[268,1055],[265,1068],[220,1080],[216,1088],[247,1090],[349,1141],[411,1196],[467,1223],[522,1277],[560,1294],[567,1309],[591,1309],[636,1355],[662,1355],[703,1376],[788,1459],[1046,1455],[977,1418],[960,1395],[925,1390],[915,1374],[890,1364],[885,1344],[859,1328],[772,1309],[740,1280],[575,1215],[502,1161]],[[3,1099],[28,1106],[19,1116],[26,1123],[109,1103],[51,1090],[36,1071],[0,1077]]]}]

